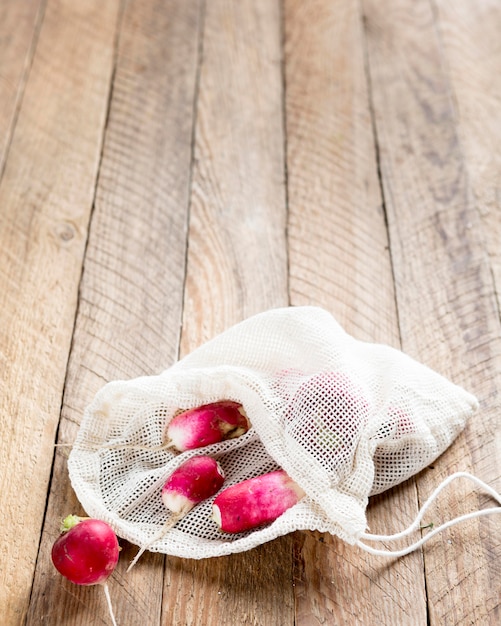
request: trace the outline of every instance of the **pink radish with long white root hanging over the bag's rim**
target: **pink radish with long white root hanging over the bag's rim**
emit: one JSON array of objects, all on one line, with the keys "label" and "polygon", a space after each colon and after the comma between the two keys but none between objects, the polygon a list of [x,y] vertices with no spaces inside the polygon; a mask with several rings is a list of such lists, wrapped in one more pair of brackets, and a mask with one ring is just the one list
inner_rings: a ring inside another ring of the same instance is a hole
[{"label": "pink radish with long white root hanging over the bag's rim", "polygon": [[161,539],[196,504],[217,493],[223,483],[224,472],[219,463],[210,456],[191,457],[174,470],[162,489],[162,501],[165,507],[172,512],[172,515],[160,532],[139,550],[127,571],[129,572],[134,567],[139,557],[149,546]]}]

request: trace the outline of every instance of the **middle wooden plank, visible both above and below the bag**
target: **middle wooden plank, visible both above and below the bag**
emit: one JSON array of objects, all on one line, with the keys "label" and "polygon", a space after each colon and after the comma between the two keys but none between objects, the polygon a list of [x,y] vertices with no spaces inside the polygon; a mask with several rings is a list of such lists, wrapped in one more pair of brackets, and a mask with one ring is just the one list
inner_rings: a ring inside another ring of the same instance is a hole
[{"label": "middle wooden plank, visible both above and below the bag", "polygon": [[[207,3],[182,354],[258,311],[286,305],[279,2]],[[175,624],[293,624],[292,542],[167,559]]]}]

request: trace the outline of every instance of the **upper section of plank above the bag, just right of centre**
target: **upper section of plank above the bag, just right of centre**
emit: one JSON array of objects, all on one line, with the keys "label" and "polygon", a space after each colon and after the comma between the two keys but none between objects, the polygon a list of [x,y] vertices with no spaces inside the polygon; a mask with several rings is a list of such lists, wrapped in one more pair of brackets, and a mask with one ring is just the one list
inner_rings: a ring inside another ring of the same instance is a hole
[{"label": "upper section of plank above the bag, just right of centre", "polygon": [[399,344],[356,3],[285,2],[291,298]]}]

